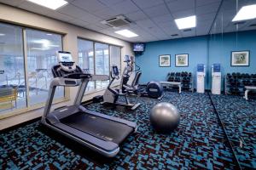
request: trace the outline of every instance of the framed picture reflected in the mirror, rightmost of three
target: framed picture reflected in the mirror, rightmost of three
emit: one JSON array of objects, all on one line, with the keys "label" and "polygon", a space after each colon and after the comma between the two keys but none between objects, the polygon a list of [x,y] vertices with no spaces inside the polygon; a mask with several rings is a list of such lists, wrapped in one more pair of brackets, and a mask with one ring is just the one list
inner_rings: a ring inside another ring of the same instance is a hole
[{"label": "framed picture reflected in the mirror, rightmost of three", "polygon": [[232,51],[231,66],[249,66],[250,51]]}]

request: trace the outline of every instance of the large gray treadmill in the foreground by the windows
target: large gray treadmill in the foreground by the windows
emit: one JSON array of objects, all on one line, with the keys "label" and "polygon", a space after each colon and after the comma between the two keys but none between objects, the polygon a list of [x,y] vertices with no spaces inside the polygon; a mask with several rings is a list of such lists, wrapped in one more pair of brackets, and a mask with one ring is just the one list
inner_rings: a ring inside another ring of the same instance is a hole
[{"label": "large gray treadmill in the foreground by the windows", "polygon": [[[59,65],[52,68],[54,79],[49,86],[49,97],[41,122],[102,156],[116,156],[119,153],[119,144],[137,131],[137,123],[90,111],[80,105],[88,82],[108,80],[108,76],[84,73],[74,64],[69,52],[59,51],[57,54]],[[79,86],[79,90],[73,105],[50,111],[57,86]]]}]

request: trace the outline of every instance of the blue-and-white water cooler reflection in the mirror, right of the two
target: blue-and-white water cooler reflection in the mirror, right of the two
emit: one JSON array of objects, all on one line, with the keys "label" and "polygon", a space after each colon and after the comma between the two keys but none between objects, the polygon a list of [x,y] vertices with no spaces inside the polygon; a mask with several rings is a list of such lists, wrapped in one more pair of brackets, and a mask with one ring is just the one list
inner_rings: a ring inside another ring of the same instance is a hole
[{"label": "blue-and-white water cooler reflection in the mirror, right of the two", "polygon": [[221,93],[221,71],[220,64],[212,65],[212,94]]}]

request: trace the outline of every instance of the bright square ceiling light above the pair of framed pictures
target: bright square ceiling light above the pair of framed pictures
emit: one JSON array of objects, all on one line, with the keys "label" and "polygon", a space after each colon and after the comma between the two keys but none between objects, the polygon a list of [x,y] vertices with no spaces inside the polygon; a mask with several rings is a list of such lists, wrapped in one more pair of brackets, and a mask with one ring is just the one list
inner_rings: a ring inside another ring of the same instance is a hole
[{"label": "bright square ceiling light above the pair of framed pictures", "polygon": [[196,26],[196,17],[193,15],[181,19],[176,19],[175,22],[179,30],[194,28]]}]

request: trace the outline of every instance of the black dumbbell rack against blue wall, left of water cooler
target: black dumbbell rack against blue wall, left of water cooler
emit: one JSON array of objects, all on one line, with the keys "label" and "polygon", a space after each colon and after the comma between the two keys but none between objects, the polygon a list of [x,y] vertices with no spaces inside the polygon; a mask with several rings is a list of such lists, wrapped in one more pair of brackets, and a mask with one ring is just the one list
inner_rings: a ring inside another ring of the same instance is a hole
[{"label": "black dumbbell rack against blue wall, left of water cooler", "polygon": [[[180,82],[183,90],[194,91],[194,78],[191,72],[169,72],[166,76],[167,82]],[[169,87],[169,86],[168,86]],[[179,88],[177,84],[173,84],[172,88]]]}]

